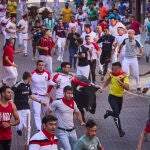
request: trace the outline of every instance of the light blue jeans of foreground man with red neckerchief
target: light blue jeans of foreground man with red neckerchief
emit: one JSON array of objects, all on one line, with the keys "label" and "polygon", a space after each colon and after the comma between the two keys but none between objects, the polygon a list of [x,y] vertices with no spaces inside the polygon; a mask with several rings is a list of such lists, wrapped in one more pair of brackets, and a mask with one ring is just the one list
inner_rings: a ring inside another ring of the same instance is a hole
[{"label": "light blue jeans of foreground man with red neckerchief", "polygon": [[77,134],[75,129],[71,132],[57,129],[57,137],[61,142],[64,150],[73,150],[77,142]]}]

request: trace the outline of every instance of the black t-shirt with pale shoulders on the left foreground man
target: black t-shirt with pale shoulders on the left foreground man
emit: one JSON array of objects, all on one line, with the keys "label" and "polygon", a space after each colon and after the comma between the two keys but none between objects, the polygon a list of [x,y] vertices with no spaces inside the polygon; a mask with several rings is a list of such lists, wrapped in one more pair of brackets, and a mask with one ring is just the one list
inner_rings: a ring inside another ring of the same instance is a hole
[{"label": "black t-shirt with pale shoulders on the left foreground man", "polygon": [[30,109],[29,96],[32,95],[30,84],[25,84],[23,80],[17,82],[13,87],[14,103],[18,110]]}]

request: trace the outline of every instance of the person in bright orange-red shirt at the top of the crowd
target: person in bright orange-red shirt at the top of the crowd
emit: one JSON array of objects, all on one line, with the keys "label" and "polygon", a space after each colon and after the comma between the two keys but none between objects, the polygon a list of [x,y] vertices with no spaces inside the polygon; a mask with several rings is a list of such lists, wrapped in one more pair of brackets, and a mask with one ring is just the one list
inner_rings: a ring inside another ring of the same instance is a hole
[{"label": "person in bright orange-red shirt at the top of the crowd", "polygon": [[100,22],[103,21],[104,16],[106,16],[108,13],[108,9],[107,7],[103,6],[103,3],[99,3],[99,19]]}]

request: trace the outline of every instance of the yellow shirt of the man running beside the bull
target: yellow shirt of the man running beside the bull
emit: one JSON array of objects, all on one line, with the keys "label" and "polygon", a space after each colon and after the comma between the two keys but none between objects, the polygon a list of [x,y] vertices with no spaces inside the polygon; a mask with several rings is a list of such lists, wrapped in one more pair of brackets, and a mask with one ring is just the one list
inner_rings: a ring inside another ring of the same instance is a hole
[{"label": "yellow shirt of the man running beside the bull", "polygon": [[120,83],[116,79],[121,78],[123,83],[129,84],[129,78],[125,73],[118,76],[115,76],[112,73],[110,73],[109,75],[111,78],[109,93],[117,97],[123,97],[124,88],[120,85]]}]

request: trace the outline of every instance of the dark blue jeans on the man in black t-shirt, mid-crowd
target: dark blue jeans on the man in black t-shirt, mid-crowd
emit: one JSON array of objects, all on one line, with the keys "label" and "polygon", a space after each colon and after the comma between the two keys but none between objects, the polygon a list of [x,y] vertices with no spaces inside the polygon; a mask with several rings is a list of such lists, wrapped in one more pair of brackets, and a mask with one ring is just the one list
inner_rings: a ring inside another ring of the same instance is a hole
[{"label": "dark blue jeans on the man in black t-shirt, mid-crowd", "polygon": [[77,62],[77,58],[74,57],[74,55],[77,54],[77,51],[72,48],[72,47],[69,47],[69,60],[70,60],[70,66],[72,67],[72,62],[74,60],[74,68],[76,66],[76,62]]}]

